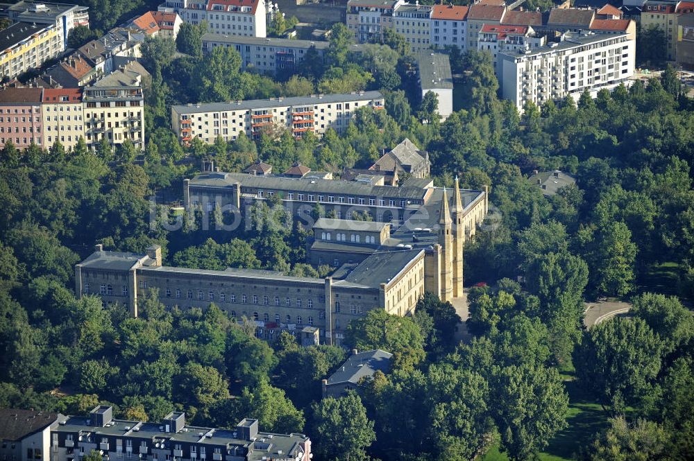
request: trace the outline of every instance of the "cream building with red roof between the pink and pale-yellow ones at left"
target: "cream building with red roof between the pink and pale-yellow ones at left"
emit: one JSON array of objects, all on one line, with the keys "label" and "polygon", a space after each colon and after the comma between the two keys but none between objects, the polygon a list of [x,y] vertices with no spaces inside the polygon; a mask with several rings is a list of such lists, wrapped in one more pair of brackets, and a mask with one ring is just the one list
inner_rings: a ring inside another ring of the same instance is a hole
[{"label": "cream building with red roof between the pink and pale-yellow ones at left", "polygon": [[46,148],[60,141],[66,150],[74,149],[84,136],[82,89],[46,88],[42,94],[43,145]]}]

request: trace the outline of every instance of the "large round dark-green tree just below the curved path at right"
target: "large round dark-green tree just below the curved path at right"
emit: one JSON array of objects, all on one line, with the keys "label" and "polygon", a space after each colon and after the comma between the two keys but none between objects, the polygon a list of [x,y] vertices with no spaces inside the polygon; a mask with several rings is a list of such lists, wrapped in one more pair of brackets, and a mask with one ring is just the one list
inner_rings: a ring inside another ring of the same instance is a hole
[{"label": "large round dark-green tree just below the curved path at right", "polygon": [[618,411],[650,392],[662,348],[643,320],[614,318],[585,333],[576,349],[576,374],[604,409]]}]

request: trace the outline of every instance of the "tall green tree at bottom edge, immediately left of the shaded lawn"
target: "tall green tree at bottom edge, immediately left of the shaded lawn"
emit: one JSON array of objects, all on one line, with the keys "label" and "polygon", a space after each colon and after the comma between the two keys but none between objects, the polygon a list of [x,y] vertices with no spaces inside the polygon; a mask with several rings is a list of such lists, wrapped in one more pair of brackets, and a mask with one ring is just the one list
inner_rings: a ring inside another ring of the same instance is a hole
[{"label": "tall green tree at bottom edge, immediately left of the shaded lawn", "polygon": [[490,400],[501,449],[529,460],[566,424],[568,397],[555,368],[512,365],[494,373]]}]

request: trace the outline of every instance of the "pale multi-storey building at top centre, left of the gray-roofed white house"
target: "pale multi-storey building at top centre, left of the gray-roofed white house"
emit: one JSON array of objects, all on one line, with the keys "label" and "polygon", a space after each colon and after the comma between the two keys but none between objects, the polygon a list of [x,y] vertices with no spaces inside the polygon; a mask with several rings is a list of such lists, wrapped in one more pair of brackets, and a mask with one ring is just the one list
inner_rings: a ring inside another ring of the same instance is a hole
[{"label": "pale multi-storey building at top centre, left of the gray-roofed white house", "polygon": [[381,42],[385,28],[393,28],[393,12],[403,0],[349,0],[347,28],[357,43]]}]

